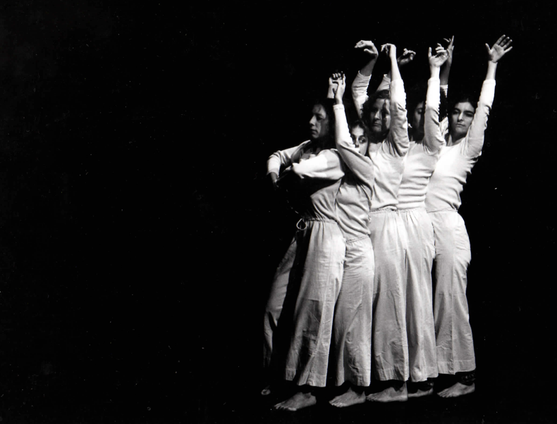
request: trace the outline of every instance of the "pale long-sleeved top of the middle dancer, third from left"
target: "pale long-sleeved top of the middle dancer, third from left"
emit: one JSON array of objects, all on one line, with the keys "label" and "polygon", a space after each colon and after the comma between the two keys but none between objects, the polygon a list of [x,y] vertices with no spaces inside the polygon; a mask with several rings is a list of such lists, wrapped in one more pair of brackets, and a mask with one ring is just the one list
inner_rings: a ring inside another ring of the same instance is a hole
[{"label": "pale long-sleeved top of the middle dancer, third from left", "polygon": [[410,146],[403,80],[391,82],[389,111],[391,127],[386,139],[379,144],[370,143],[368,149],[375,176],[372,210],[396,209],[398,205],[398,189],[404,170],[403,159]]}]

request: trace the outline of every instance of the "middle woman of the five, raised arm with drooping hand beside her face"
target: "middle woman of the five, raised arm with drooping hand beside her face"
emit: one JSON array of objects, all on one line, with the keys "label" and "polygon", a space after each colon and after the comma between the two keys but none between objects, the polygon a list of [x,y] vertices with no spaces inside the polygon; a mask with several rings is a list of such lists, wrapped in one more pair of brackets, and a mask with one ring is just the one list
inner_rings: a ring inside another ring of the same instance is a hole
[{"label": "middle woman of the five, raised arm with drooping hand beside her face", "polygon": [[375,259],[372,361],[378,380],[386,389],[369,394],[370,401],[406,400],[408,380],[408,339],[405,320],[405,227],[396,213],[403,159],[408,152],[408,120],[405,92],[396,60],[396,46],[385,44],[391,62],[390,92],[382,90],[369,97],[362,108],[362,120],[369,127],[369,157],[375,184],[369,237]]}]

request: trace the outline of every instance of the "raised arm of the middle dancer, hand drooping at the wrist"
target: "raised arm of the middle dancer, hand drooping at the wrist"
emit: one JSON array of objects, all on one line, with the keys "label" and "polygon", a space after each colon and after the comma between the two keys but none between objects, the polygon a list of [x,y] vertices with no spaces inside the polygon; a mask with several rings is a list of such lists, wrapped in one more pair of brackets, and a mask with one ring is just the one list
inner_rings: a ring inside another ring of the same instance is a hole
[{"label": "raised arm of the middle dancer, hand drooping at the wrist", "polygon": [[402,77],[400,77],[400,70],[398,70],[398,63],[396,61],[396,46],[394,44],[384,44],[382,50],[386,51],[391,61],[392,75],[389,98],[391,124],[387,135],[388,149],[389,153],[393,156],[404,156],[408,152],[408,147],[410,146],[404,84]]}]

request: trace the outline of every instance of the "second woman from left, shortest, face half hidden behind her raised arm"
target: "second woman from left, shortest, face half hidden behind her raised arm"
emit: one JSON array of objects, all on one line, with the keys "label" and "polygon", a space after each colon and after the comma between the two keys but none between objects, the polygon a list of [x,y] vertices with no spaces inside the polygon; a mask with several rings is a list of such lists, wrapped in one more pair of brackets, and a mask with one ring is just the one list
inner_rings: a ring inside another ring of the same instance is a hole
[{"label": "second woman from left, shortest, face half hidden behind her raised arm", "polygon": [[[337,386],[347,383],[343,394],[330,401],[337,407],[361,404],[372,375],[372,296],[374,254],[369,239],[369,211],[374,184],[372,160],[367,156],[364,123],[348,129],[343,106],[345,77],[333,74],[336,149],[345,164],[345,175],[336,197],[338,226],[346,253],[341,292],[335,306],[331,369]],[[350,139],[352,137],[352,139]]]}]

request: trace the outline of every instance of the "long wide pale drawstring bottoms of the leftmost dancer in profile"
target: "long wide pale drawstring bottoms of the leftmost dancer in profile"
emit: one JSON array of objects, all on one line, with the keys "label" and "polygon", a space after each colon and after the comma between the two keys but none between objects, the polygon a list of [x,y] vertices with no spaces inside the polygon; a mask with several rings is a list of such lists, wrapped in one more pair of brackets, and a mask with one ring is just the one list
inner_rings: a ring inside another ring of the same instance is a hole
[{"label": "long wide pale drawstring bottoms of the leftmost dancer in profile", "polygon": [[296,385],[324,387],[345,244],[334,222],[305,220],[305,225],[296,235],[298,249],[290,271],[295,280],[283,310],[292,323],[283,378]]}]

